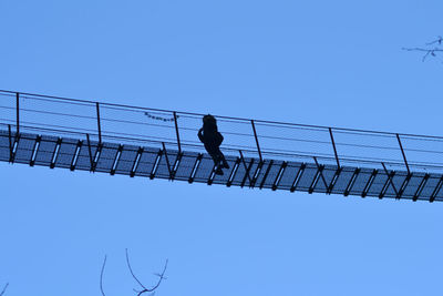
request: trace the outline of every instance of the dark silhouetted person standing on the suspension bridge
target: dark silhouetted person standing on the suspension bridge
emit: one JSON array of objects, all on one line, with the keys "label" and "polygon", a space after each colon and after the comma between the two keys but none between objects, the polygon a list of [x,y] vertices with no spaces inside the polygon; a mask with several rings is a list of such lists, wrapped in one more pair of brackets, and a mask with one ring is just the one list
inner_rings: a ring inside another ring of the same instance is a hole
[{"label": "dark silhouetted person standing on the suspension bridge", "polygon": [[223,135],[218,132],[217,121],[213,115],[203,116],[203,127],[198,131],[198,139],[205,144],[206,151],[213,157],[216,174],[223,175],[222,167],[229,169],[229,165],[220,151]]}]

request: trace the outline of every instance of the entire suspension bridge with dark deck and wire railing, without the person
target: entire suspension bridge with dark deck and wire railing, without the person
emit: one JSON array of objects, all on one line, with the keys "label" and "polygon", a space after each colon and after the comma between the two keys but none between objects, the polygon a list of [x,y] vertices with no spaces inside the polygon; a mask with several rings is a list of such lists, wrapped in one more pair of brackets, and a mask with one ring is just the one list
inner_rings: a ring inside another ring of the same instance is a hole
[{"label": "entire suspension bridge with dark deck and wire railing, without the person", "polygon": [[229,169],[198,141],[204,114],[0,90],[0,161],[288,192],[443,201],[443,137],[215,115]]}]

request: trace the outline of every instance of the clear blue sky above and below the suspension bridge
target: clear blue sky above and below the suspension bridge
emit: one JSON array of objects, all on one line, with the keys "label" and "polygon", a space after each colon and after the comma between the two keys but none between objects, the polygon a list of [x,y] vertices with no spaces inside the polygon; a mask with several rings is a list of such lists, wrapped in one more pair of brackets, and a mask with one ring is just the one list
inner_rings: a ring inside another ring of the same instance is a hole
[{"label": "clear blue sky above and below the suspension bridge", "polygon": [[[0,2],[0,89],[442,135],[442,1]],[[443,205],[0,163],[7,296],[441,295]]]}]

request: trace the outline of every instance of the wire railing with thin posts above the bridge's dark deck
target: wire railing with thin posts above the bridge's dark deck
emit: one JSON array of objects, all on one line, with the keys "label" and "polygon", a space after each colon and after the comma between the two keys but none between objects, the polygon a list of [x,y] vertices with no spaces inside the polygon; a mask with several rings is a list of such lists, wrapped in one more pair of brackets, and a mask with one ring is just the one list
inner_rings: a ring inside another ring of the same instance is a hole
[{"label": "wire railing with thin posts above the bridge's dark deck", "polygon": [[[215,115],[215,114],[213,114]],[[204,114],[0,91],[0,129],[203,153]],[[249,157],[443,173],[443,137],[215,115],[222,150]]]}]

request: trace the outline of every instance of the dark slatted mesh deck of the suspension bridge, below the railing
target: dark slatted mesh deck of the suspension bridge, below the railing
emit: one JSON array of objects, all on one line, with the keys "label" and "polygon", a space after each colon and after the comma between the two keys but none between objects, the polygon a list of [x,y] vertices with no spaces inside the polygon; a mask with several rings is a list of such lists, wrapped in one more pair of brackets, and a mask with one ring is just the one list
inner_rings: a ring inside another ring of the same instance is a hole
[{"label": "dark slatted mesh deck of the suspension bridge, below the railing", "polygon": [[443,201],[443,175],[372,170],[318,162],[226,155],[230,169],[215,174],[207,154],[0,130],[0,161],[227,186],[372,197]]}]

